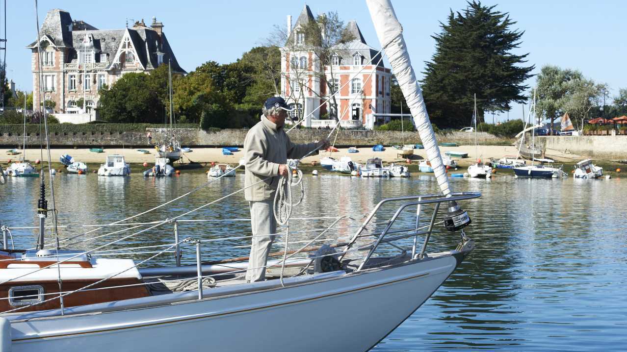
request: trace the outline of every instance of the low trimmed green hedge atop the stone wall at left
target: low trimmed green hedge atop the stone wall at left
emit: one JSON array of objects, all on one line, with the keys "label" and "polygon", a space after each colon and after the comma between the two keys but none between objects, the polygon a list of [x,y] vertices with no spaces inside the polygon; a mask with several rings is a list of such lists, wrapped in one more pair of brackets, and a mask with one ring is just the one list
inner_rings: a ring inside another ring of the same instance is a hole
[{"label": "low trimmed green hedge atop the stone wall at left", "polygon": [[[146,128],[169,128],[170,125],[152,123],[84,123],[73,125],[71,123],[60,123],[48,125],[50,133],[120,133],[120,132],[144,132]],[[196,123],[179,123],[176,128],[194,128],[198,129]],[[0,125],[0,133],[11,133],[21,135],[24,130],[23,125]],[[40,125],[26,125],[26,133],[39,133]]]}]

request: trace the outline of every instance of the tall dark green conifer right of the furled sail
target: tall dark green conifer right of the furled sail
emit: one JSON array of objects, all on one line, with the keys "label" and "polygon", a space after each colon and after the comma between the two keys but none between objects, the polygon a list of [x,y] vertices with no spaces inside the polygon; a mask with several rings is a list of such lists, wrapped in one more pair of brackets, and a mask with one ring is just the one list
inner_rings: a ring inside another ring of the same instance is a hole
[{"label": "tall dark green conifer right of the furled sail", "polygon": [[436,53],[426,63],[423,91],[427,111],[439,127],[464,127],[471,122],[477,94],[479,122],[485,111],[507,111],[510,103],[527,100],[523,85],[534,66],[522,66],[528,54],[515,55],[523,31],[507,13],[468,2],[463,13],[451,13],[442,31],[432,36]]}]

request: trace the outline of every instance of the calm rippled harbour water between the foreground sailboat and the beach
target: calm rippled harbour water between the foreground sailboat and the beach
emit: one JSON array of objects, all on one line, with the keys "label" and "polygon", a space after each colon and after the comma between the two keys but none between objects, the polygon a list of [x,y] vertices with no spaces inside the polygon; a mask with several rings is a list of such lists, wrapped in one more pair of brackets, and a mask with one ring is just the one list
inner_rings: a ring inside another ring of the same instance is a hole
[{"label": "calm rippled harbour water between the foreground sailboat and the beach", "polygon": [[[36,224],[37,182],[10,179],[0,188],[3,224]],[[60,230],[61,238],[85,232],[78,225],[123,219],[184,194],[203,182],[206,182],[204,174],[194,172],[158,180],[144,179],[139,173],[130,179],[57,175],[55,192],[60,224],[71,225]],[[307,198],[293,217],[350,214],[357,218],[386,197],[437,190],[435,179],[428,176],[362,180],[325,175],[307,177],[305,182]],[[627,343],[625,180],[517,180],[498,175],[492,181],[452,179],[451,183],[455,190],[483,193],[482,198],[464,204],[473,220],[467,234],[477,241],[477,246],[433,297],[374,351],[624,349]],[[182,202],[131,222],[169,219],[234,192],[242,185],[241,176],[219,180]],[[386,210],[376,220],[385,220],[393,210]],[[184,219],[245,219],[248,215],[243,194],[236,194],[229,201],[210,205]],[[411,223],[411,219],[405,221]],[[292,228],[312,229],[330,222],[293,221]],[[354,222],[346,220],[340,225],[354,225]],[[181,225],[181,237],[218,239],[245,235],[249,230],[250,224],[245,221],[194,222]],[[341,241],[353,230],[340,229],[329,237]],[[90,236],[106,233],[98,230]],[[103,244],[131,233],[121,232],[94,242]],[[315,235],[295,234],[290,239],[299,241],[312,236]],[[34,243],[36,232],[13,230],[13,237],[16,247],[28,247]],[[435,251],[451,249],[458,237],[441,232],[433,240],[431,249]],[[94,242],[78,242],[72,247],[86,249],[93,247]],[[172,225],[167,225],[132,237],[118,247],[171,242]],[[247,241],[239,239],[205,242],[203,256],[204,259],[245,256],[246,244]],[[193,262],[193,249],[187,247],[184,251],[184,261]],[[155,264],[159,263],[171,264],[172,256],[159,257]]]}]

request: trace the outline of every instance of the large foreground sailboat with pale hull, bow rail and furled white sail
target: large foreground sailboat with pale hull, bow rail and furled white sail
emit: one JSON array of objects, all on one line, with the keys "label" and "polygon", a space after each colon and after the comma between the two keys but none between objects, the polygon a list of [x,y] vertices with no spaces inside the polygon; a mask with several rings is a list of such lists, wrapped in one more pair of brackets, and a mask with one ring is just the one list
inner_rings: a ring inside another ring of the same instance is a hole
[{"label": "large foreground sailboat with pale hull, bow rail and furled white sail", "polygon": [[[98,256],[95,251],[107,245],[88,251],[59,251],[58,244],[57,249],[44,249],[45,220],[41,217],[36,250],[0,251],[0,262],[6,263],[0,266],[0,285],[8,294],[8,299],[0,300],[0,346],[13,352],[108,352],[113,344],[117,351],[206,350],[208,346],[215,351],[367,351],[418,309],[472,251],[474,242],[463,232],[470,218],[456,202],[480,194],[449,189],[391,3],[368,0],[367,4],[403,95],[411,101],[410,110],[441,193],[381,200],[339,252],[322,246],[311,256],[292,260],[285,252],[282,260],[268,263],[281,267],[280,276],[253,283],[239,275],[248,263],[203,264],[201,241],[178,239],[176,219],[186,214],[151,222],[150,227],[135,232],[120,229],[133,217],[111,224],[116,226],[115,233],[127,232],[108,245],[175,221],[174,243],[141,262]],[[424,214],[427,208],[433,214]],[[375,229],[374,217],[379,221],[394,209],[382,231],[364,232]],[[460,243],[450,251],[427,253],[429,238],[439,228],[435,219],[439,224],[440,209],[448,209],[442,222],[446,230],[461,235]],[[404,219],[401,214],[415,215],[415,226],[406,229],[404,220],[397,222]],[[413,244],[406,239],[413,239]],[[409,248],[400,248],[396,254],[379,251],[392,242],[394,247]],[[196,247],[196,265],[138,269],[173,249],[179,264],[179,246]],[[284,277],[285,267],[295,267],[294,275]],[[376,304],[366,309],[367,302]],[[337,308],[358,323],[344,324],[341,329],[329,324]],[[280,338],[268,338],[277,333]]]}]

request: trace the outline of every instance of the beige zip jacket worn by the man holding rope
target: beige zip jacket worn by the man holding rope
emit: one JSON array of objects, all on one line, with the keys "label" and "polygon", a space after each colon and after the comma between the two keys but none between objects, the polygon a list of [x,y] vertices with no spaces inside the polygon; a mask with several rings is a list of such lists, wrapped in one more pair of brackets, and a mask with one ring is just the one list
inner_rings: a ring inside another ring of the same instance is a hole
[{"label": "beige zip jacket worn by the man holding rope", "polygon": [[[286,163],[288,158],[301,158],[317,146],[316,142],[292,143],[283,127],[277,128],[275,123],[261,115],[261,121],[246,133],[244,140],[245,199],[249,202],[273,199],[280,178],[279,165]],[[268,176],[272,177],[256,184]]]}]

